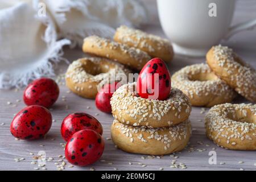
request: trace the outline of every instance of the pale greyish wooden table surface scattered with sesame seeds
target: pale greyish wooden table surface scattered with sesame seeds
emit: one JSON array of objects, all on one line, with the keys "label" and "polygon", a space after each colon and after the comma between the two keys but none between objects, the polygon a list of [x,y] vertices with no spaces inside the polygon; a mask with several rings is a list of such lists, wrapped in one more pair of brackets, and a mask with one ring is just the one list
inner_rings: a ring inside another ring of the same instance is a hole
[{"label": "pale greyish wooden table surface scattered with sesame seeds", "polygon": [[[163,36],[162,29],[159,25],[156,14],[156,5],[154,1],[149,3],[148,8],[151,15],[151,22],[143,26],[143,30]],[[238,1],[236,13],[234,15],[234,23],[242,20],[256,18],[256,3],[252,0]],[[228,42],[223,44],[234,49],[244,60],[248,61],[256,68],[256,30],[245,31],[237,34]],[[70,50],[65,48],[65,57],[72,61],[84,54],[80,49]],[[179,70],[185,65],[203,63],[204,58],[189,59],[185,57],[175,56],[169,66],[171,73]],[[62,64],[58,68],[60,73],[64,73],[67,65]],[[60,78],[60,76],[59,76]],[[52,128],[45,139],[35,141],[15,140],[10,134],[10,123],[15,113],[18,113],[25,105],[22,101],[22,90],[1,90],[0,91],[0,169],[1,170],[35,170],[37,164],[31,164],[33,156],[39,151],[46,152],[46,158],[53,158],[47,161],[45,168],[48,170],[56,170],[55,163],[61,163],[62,159],[59,155],[64,155],[64,140],[60,135],[60,125],[63,118],[77,111],[84,111],[94,115],[104,127],[105,152],[101,160],[88,167],[69,167],[69,163],[65,166],[65,170],[255,170],[256,169],[256,152],[255,151],[232,151],[217,147],[207,137],[204,130],[204,116],[208,109],[201,107],[193,107],[190,119],[192,121],[192,137],[187,148],[174,155],[166,156],[147,156],[128,154],[114,147],[110,138],[110,125],[113,122],[112,115],[101,113],[96,109],[94,100],[86,100],[73,93],[69,93],[64,82],[60,81],[60,97],[56,104],[52,107],[53,115]],[[237,98],[234,103],[246,102],[242,97]],[[210,165],[209,151],[216,151],[217,164]],[[34,155],[32,155],[34,154]],[[14,159],[24,159],[16,162]],[[170,168],[172,160],[176,160],[176,164],[184,163],[187,169]],[[131,163],[131,165],[129,164]],[[144,166],[145,164],[146,166]],[[39,167],[40,170],[44,169]]]}]

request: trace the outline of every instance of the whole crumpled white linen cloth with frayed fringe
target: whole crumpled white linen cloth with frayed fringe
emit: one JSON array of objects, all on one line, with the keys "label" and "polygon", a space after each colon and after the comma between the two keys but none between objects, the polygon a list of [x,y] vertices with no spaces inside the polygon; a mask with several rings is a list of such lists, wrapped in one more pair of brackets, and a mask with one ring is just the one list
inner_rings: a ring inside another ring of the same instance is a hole
[{"label": "whole crumpled white linen cloth with frayed fringe", "polygon": [[[45,16],[39,16],[42,3]],[[92,34],[110,37],[120,24],[139,26],[146,17],[137,0],[1,0],[0,88],[54,76],[64,45],[81,46]]]}]

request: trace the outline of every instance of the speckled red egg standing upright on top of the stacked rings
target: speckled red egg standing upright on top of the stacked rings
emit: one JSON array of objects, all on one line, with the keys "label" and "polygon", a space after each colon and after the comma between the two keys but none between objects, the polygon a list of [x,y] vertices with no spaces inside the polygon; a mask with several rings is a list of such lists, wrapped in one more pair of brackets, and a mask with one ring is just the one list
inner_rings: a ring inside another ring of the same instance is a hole
[{"label": "speckled red egg standing upright on top of the stacked rings", "polygon": [[154,58],[142,68],[137,92],[142,98],[166,100],[171,91],[171,76],[162,59]]}]

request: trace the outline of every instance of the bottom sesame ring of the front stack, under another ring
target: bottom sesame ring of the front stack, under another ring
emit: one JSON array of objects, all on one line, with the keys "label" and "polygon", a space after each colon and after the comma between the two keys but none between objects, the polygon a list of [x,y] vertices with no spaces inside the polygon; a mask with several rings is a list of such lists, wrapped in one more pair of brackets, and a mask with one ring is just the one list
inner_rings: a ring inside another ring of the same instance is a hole
[{"label": "bottom sesame ring of the front stack, under another ring", "polygon": [[191,137],[189,120],[170,127],[129,126],[115,120],[113,142],[123,151],[135,154],[166,155],[183,150]]}]

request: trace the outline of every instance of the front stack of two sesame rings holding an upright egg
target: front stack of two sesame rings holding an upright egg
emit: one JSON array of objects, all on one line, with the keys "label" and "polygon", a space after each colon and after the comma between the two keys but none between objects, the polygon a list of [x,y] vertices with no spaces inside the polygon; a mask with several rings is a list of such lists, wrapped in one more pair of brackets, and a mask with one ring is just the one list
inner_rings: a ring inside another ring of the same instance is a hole
[{"label": "front stack of two sesame rings holding an upright egg", "polygon": [[136,82],[122,85],[111,100],[113,142],[123,151],[165,155],[180,151],[191,136],[191,103],[172,88],[167,100],[149,100],[135,93]]}]

